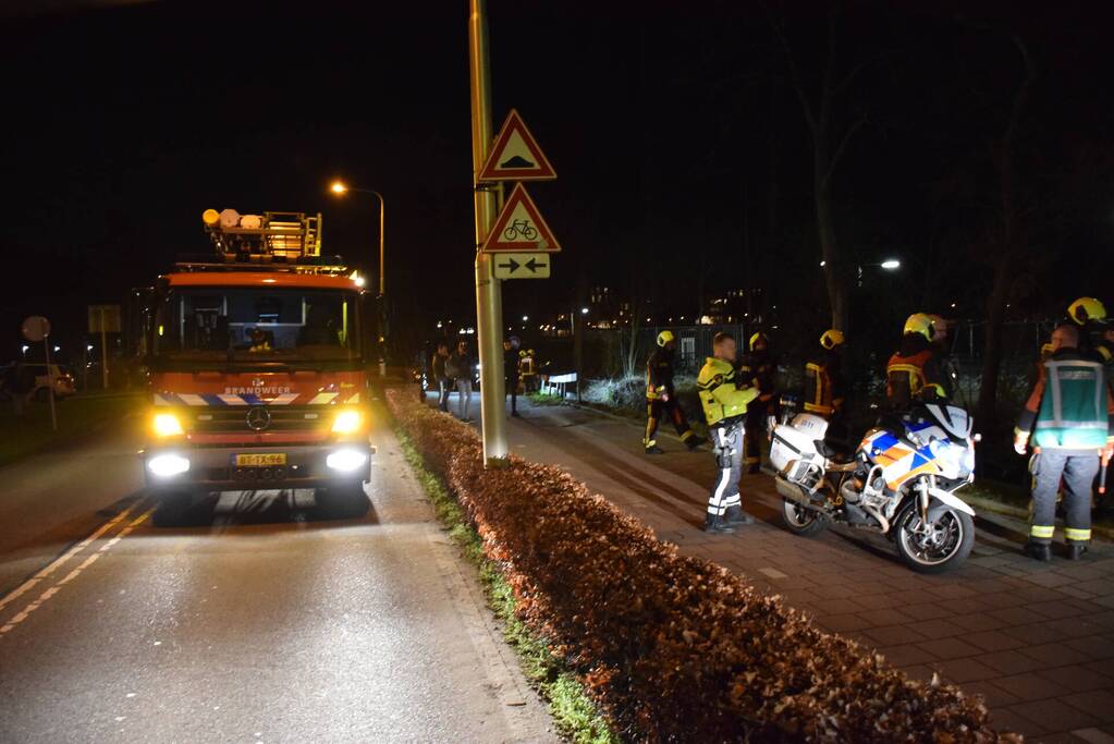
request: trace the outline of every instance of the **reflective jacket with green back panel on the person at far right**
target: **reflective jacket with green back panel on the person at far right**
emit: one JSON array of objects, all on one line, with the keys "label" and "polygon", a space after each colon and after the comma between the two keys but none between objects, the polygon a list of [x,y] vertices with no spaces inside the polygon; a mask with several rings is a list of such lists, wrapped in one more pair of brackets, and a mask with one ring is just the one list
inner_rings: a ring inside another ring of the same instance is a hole
[{"label": "reflective jacket with green back panel on the person at far right", "polygon": [[1042,449],[1094,452],[1114,431],[1114,397],[1103,365],[1075,349],[1061,349],[1042,366],[1017,432],[1033,432]]}]

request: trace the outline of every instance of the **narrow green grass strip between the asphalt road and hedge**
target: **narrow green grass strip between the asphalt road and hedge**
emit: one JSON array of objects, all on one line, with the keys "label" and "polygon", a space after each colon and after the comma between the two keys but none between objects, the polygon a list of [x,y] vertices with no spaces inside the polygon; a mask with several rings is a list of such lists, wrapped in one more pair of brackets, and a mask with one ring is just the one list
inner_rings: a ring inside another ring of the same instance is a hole
[{"label": "narrow green grass strip between the asphalt road and hedge", "polygon": [[[385,412],[385,407],[383,408]],[[515,614],[515,593],[504,579],[498,566],[483,555],[480,536],[469,525],[463,509],[446,488],[444,482],[427,467],[413,442],[394,427],[403,456],[421,484],[438,520],[465,558],[477,568],[488,606],[504,624],[504,637],[518,656],[526,678],[549,704],[557,731],[578,744],[613,744],[618,737],[612,732],[595,703],[588,697],[576,676],[549,653],[544,638],[535,635]]]}]

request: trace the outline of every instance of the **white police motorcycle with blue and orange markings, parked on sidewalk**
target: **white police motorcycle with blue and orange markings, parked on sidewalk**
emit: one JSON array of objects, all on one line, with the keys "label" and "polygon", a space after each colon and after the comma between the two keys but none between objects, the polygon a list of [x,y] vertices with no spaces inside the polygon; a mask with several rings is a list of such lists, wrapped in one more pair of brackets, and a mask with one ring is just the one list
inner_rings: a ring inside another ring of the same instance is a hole
[{"label": "white police motorcycle with blue and orange markings, parked on sidewalk", "polygon": [[975,544],[975,511],[956,491],[975,479],[973,420],[944,399],[883,415],[853,456],[824,442],[828,421],[798,413],[772,435],[770,462],[782,517],[811,537],[831,522],[880,532],[921,574],[962,565]]}]

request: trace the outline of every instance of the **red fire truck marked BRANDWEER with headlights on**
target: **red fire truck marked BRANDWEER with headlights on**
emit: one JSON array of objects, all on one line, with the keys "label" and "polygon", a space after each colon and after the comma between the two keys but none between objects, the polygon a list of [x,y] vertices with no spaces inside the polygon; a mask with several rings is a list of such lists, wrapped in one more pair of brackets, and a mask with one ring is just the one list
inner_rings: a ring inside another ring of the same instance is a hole
[{"label": "red fire truck marked BRANDWEER with headlights on", "polygon": [[370,444],[362,280],[321,255],[321,215],[203,215],[213,252],[158,278],[140,457],[156,519],[201,495],[316,489],[363,513]]}]

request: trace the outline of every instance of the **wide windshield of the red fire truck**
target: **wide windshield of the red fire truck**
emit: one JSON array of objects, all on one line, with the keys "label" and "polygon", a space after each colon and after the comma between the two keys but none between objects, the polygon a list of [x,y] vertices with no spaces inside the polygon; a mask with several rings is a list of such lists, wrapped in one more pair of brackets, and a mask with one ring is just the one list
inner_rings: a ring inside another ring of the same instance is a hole
[{"label": "wide windshield of the red fire truck", "polygon": [[158,303],[162,362],[236,365],[351,363],[361,359],[354,292],[270,287],[169,290]]}]

